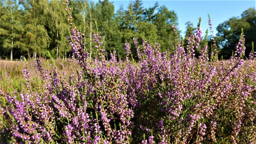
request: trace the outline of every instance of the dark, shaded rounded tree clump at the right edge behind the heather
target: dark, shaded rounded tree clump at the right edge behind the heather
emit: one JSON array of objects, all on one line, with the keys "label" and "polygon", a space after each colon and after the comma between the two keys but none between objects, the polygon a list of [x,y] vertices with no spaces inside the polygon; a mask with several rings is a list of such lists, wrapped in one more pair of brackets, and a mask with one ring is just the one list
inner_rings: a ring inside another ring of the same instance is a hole
[{"label": "dark, shaded rounded tree clump at the right edge behind the heather", "polygon": [[221,23],[217,27],[217,43],[221,47],[220,55],[228,59],[239,40],[241,28],[244,29],[245,35],[245,56],[248,56],[252,50],[251,43],[256,42],[256,10],[249,8],[245,10],[241,17],[232,17]]}]

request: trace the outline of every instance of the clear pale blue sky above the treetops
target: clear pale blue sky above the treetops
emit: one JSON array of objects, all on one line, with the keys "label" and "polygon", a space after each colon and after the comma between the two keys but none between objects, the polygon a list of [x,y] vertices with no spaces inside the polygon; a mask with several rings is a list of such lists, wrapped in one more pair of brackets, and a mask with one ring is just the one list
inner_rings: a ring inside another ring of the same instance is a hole
[{"label": "clear pale blue sky above the treetops", "polygon": [[[97,2],[97,0],[93,0]],[[130,0],[110,0],[115,6],[115,10],[119,9],[122,4],[127,9]],[[208,14],[212,19],[214,34],[218,24],[228,20],[231,17],[237,17],[243,11],[250,7],[255,8],[256,0],[142,0],[144,8],[149,8],[158,1],[159,6],[165,5],[169,10],[174,10],[178,15],[178,28],[184,35],[185,23],[191,21],[194,27],[197,26],[198,18],[202,18],[201,28],[203,33],[208,26]]]}]

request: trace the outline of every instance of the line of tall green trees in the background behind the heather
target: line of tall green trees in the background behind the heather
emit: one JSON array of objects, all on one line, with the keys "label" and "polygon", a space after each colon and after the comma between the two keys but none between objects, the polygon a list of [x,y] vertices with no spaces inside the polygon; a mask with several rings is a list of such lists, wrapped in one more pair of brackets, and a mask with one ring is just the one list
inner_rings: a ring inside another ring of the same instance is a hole
[{"label": "line of tall green trees in the background behind the heather", "polygon": [[[60,0],[0,0],[0,58],[19,59],[47,57],[50,51],[55,58],[70,57],[70,46],[67,41],[69,22],[65,6]],[[128,8],[120,5],[115,12],[109,0],[97,3],[88,0],[69,0],[71,15],[75,26],[85,34],[84,49],[93,49],[96,55],[92,34],[95,33],[95,21],[101,32],[102,41],[108,53],[116,51],[118,58],[125,59],[124,42],[133,43],[145,38],[157,42],[161,50],[171,50],[177,39],[172,25],[178,26],[175,11],[157,2],[150,8],[144,8],[142,0],[131,1]],[[196,28],[187,22],[186,36],[195,32]],[[256,40],[255,8],[245,10],[240,17],[232,17],[217,27],[215,40],[219,56],[228,59],[244,29],[246,56],[252,50],[252,42]],[[181,35],[180,31],[177,31]],[[186,38],[184,38],[186,47]],[[212,38],[209,36],[209,53]],[[136,48],[131,47],[136,59]],[[200,51],[200,46],[196,50]]]}]

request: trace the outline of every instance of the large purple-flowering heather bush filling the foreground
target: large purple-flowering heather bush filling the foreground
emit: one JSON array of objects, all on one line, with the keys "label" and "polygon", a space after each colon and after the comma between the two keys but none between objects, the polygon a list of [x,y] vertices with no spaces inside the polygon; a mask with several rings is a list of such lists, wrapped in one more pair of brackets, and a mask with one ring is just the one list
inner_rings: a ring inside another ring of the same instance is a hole
[{"label": "large purple-flowering heather bush filling the foreground", "polygon": [[32,89],[27,63],[21,92],[0,87],[1,118],[10,142],[256,143],[256,53],[252,50],[245,64],[243,33],[228,62],[218,60],[217,49],[208,55],[208,31],[203,38],[201,19],[186,46],[177,33],[173,51],[163,53],[158,43],[143,38],[140,47],[133,38],[139,60],[125,42],[122,62],[115,51],[108,59],[96,29],[97,57],[91,59],[68,1],[63,5],[70,22],[70,71],[59,70],[48,53],[47,66],[35,61],[40,90]]}]

